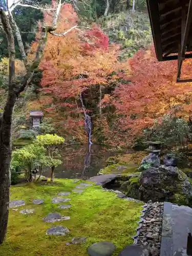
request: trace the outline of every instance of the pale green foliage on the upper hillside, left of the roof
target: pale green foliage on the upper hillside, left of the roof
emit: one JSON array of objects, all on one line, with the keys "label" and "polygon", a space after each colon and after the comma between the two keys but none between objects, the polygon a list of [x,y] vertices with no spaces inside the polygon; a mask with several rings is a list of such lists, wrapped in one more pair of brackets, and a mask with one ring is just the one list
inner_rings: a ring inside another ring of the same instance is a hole
[{"label": "pale green foliage on the upper hillside, left of the roof", "polygon": [[120,59],[132,57],[140,48],[152,42],[150,20],[145,12],[111,14],[102,22],[110,42],[121,44]]}]

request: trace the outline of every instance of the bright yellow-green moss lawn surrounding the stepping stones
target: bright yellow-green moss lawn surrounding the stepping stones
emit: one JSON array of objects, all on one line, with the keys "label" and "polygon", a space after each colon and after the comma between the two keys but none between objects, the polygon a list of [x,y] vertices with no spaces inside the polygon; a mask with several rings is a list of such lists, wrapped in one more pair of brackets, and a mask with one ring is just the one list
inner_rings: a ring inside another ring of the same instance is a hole
[{"label": "bright yellow-green moss lawn surrounding the stepping stones", "polygon": [[[115,193],[105,191],[100,186],[90,186],[82,194],[72,192],[69,209],[59,209],[59,204],[52,204],[51,198],[60,191],[69,191],[81,181],[71,179],[55,180],[53,185],[21,184],[11,186],[10,199],[23,199],[25,206],[10,208],[6,242],[0,246],[1,256],[84,256],[87,248],[94,242],[111,241],[117,249],[113,255],[127,244],[133,243],[139,220],[141,204],[116,197]],[[45,199],[44,204],[35,205],[35,198]],[[35,209],[32,215],[20,214],[20,209]],[[42,218],[49,212],[59,212],[70,216],[70,220],[46,223]],[[46,230],[52,225],[63,225],[70,229],[67,236],[47,236]],[[83,244],[70,244],[72,237],[87,237]]]}]

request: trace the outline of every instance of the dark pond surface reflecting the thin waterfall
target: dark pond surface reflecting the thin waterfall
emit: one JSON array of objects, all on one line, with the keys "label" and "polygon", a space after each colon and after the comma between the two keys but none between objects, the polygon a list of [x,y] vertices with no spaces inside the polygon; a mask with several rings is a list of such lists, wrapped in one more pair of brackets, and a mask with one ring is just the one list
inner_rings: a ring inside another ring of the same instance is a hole
[{"label": "dark pond surface reflecting the thin waterfall", "polygon": [[[106,166],[106,160],[110,156],[119,153],[113,149],[106,149],[101,145],[70,145],[62,148],[62,164],[55,169],[55,178],[88,179],[96,176],[99,170]],[[42,175],[50,177],[50,170]]]}]

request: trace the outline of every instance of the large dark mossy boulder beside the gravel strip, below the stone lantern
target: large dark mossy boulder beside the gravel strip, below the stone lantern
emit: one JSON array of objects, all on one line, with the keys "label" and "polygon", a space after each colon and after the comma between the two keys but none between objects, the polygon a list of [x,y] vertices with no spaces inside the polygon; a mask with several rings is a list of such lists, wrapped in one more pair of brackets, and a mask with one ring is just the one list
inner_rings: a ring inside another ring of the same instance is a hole
[{"label": "large dark mossy boulder beside the gravel strip, below the stone lantern", "polygon": [[191,180],[174,166],[161,165],[143,170],[140,177],[126,181],[120,190],[127,196],[145,202],[169,201],[192,205]]}]

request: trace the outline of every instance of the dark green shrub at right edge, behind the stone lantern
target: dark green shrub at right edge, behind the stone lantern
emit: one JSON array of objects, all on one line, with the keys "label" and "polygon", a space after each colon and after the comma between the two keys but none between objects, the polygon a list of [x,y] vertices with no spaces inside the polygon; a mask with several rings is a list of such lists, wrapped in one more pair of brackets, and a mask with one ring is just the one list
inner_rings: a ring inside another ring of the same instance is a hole
[{"label": "dark green shrub at right edge, behind the stone lantern", "polygon": [[182,146],[191,138],[190,127],[184,119],[165,114],[161,123],[156,120],[153,127],[144,130],[144,138],[161,141],[168,148]]}]

